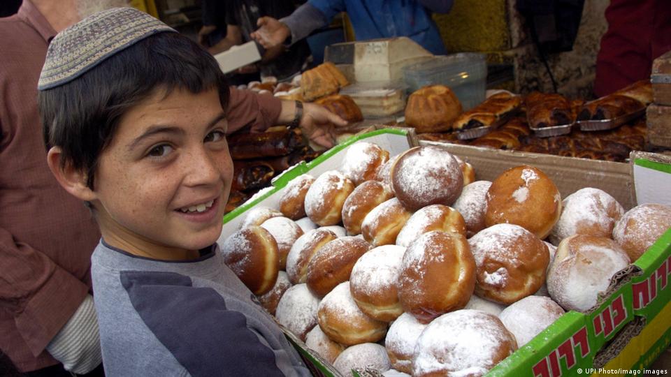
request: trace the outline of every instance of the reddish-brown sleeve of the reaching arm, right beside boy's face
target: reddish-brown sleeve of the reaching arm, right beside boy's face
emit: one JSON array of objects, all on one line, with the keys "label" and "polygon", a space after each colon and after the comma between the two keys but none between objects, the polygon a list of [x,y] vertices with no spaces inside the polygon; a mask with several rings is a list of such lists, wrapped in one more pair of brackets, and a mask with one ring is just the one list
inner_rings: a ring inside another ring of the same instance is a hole
[{"label": "reddish-brown sleeve of the reaching arm, right beside boy's face", "polygon": [[231,87],[229,98],[229,131],[233,133],[245,126],[252,132],[262,132],[274,126],[280,117],[282,101],[268,94]]}]

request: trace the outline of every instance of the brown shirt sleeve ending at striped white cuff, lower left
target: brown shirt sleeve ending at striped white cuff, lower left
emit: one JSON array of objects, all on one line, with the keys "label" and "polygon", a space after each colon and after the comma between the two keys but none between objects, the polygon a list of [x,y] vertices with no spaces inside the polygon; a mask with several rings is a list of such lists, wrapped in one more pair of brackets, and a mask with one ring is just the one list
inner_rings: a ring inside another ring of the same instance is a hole
[{"label": "brown shirt sleeve ending at striped white cuff, lower left", "polygon": [[88,286],[44,253],[0,228],[0,305],[39,355],[88,294]]}]

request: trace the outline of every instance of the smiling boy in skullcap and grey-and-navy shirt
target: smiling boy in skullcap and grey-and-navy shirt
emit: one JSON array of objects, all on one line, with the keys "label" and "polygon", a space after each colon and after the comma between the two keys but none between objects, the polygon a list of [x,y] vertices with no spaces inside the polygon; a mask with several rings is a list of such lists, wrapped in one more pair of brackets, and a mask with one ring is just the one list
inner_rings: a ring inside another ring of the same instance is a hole
[{"label": "smiling boy in skullcap and grey-and-navy shirt", "polygon": [[[106,374],[309,375],[215,244],[232,179],[227,127],[240,124],[227,117],[248,104],[229,104],[242,94],[229,94],[216,61],[116,8],[52,40],[38,89],[48,165],[101,229],[92,279]],[[308,105],[305,117],[342,123]],[[275,117],[288,114],[282,103]]]}]

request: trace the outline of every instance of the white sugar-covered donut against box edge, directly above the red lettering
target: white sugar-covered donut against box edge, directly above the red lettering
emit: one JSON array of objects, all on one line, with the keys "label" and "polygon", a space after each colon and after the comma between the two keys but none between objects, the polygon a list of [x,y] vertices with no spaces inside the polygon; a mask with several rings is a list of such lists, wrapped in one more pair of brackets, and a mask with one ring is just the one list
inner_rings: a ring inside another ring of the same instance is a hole
[{"label": "white sugar-covered donut against box edge, directly above the red lettering", "polygon": [[522,347],[563,314],[564,309],[549,297],[528,296],[505,308],[498,318]]}]

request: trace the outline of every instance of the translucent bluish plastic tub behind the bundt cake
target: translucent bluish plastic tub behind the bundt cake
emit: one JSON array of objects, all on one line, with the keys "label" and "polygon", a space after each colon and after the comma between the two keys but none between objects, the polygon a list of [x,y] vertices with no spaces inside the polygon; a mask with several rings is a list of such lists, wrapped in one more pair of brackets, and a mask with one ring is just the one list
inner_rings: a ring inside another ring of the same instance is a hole
[{"label": "translucent bluish plastic tub behind the bundt cake", "polygon": [[452,89],[463,110],[484,101],[487,63],[484,54],[463,52],[433,57],[403,68],[408,93],[426,85],[442,84]]}]

